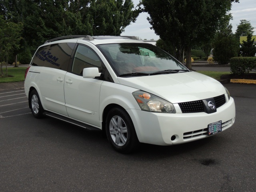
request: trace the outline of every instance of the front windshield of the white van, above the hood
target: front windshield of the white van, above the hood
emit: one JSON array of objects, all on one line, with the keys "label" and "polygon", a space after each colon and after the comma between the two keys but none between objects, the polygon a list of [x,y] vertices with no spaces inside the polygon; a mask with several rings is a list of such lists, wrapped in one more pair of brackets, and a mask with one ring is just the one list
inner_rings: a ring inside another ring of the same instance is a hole
[{"label": "front windshield of the white van, above the hood", "polygon": [[117,76],[144,76],[189,71],[163,50],[145,43],[97,45]]}]

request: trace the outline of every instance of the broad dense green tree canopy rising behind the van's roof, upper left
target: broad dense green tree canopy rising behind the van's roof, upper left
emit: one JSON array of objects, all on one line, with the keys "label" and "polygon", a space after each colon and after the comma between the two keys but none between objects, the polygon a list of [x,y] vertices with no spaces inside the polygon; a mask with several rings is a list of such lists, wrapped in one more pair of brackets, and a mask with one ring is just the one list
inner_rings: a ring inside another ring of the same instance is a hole
[{"label": "broad dense green tree canopy rising behind the van's roof, upper left", "polygon": [[[6,20],[24,24],[25,45],[67,35],[120,35],[135,22],[132,0],[0,0]],[[26,47],[24,47],[26,49]]]}]

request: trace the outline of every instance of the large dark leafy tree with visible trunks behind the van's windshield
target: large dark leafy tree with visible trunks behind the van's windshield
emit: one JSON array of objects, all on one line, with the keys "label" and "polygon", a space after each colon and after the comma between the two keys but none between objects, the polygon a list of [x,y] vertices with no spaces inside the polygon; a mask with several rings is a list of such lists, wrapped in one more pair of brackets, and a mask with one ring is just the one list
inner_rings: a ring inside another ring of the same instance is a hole
[{"label": "large dark leafy tree with visible trunks behind the van's windshield", "polygon": [[[191,69],[191,46],[203,45],[215,35],[224,20],[230,19],[227,12],[231,2],[238,0],[142,0],[148,21],[167,44],[172,44],[181,61],[182,50],[186,50],[186,66]],[[141,5],[139,4],[139,6]]]}]

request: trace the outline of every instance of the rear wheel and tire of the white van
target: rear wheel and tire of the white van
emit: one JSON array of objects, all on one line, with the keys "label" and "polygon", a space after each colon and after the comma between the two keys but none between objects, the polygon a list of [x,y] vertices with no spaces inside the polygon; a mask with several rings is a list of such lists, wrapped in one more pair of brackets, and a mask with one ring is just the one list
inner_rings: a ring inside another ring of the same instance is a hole
[{"label": "rear wheel and tire of the white van", "polygon": [[38,92],[35,89],[30,93],[29,104],[33,116],[35,118],[42,118],[44,109],[38,96]]}]

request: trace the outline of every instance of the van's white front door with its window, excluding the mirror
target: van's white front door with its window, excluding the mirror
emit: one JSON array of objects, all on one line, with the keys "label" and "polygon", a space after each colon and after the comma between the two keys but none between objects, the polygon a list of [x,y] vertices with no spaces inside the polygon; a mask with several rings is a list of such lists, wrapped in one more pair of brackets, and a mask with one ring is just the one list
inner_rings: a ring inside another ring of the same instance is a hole
[{"label": "van's white front door with its window, excluding the mirror", "polygon": [[78,45],[71,72],[67,72],[64,80],[66,109],[70,118],[100,128],[99,100],[100,86],[103,80],[83,78],[84,68],[98,67],[102,62],[87,46]]}]

